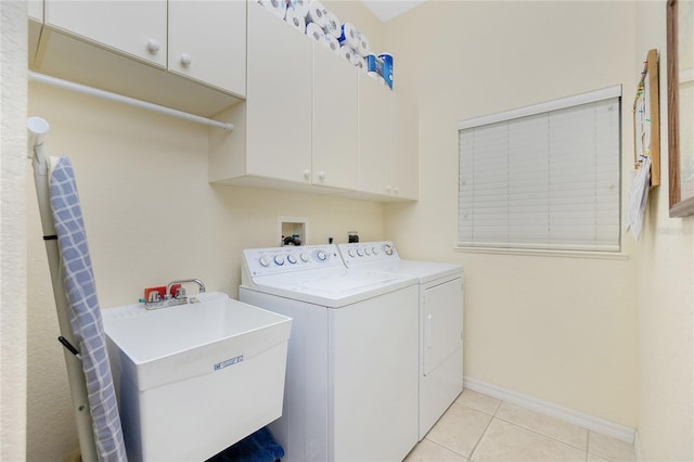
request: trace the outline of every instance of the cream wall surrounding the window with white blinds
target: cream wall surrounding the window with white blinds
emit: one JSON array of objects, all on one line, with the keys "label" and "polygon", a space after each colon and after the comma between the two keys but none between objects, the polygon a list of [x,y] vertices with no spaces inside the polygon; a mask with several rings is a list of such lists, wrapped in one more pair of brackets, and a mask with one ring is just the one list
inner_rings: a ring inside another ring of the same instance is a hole
[{"label": "cream wall surrounding the window with white blinds", "polygon": [[465,266],[465,375],[635,427],[632,240],[627,259],[453,249],[458,121],[619,84],[628,120],[635,3],[429,0],[389,22],[386,38],[395,87],[420,106],[421,191],[416,204],[386,206],[386,236],[406,257]]}]

